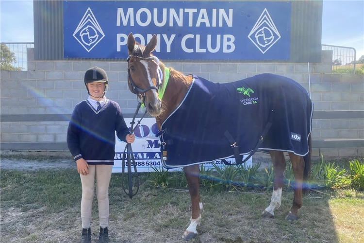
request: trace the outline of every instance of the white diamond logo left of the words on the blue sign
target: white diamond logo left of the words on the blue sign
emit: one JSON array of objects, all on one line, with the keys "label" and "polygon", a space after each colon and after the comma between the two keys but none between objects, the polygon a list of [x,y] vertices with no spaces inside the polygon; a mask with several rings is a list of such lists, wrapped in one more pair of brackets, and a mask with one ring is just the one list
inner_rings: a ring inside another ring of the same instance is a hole
[{"label": "white diamond logo left of the words on the blue sign", "polygon": [[87,8],[80,23],[78,24],[73,37],[83,46],[83,48],[90,52],[99,42],[105,37],[99,22],[92,13],[90,7]]}]

